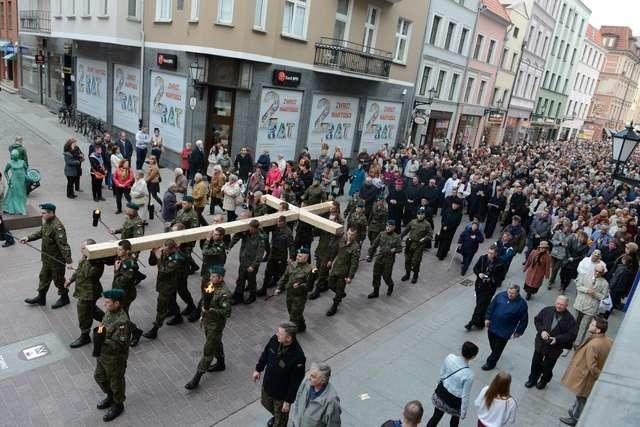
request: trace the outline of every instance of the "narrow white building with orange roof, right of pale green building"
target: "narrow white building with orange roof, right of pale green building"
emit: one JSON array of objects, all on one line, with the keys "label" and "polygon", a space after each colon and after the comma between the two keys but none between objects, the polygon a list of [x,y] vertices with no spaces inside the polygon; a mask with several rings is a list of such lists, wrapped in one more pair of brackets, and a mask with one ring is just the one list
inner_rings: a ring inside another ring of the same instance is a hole
[{"label": "narrow white building with orange roof, right of pale green building", "polygon": [[598,84],[605,55],[606,51],[602,46],[600,32],[593,26],[587,25],[580,60],[569,93],[566,119],[560,124],[559,139],[565,141],[574,138],[590,140],[594,137],[593,129],[583,128],[583,126]]}]

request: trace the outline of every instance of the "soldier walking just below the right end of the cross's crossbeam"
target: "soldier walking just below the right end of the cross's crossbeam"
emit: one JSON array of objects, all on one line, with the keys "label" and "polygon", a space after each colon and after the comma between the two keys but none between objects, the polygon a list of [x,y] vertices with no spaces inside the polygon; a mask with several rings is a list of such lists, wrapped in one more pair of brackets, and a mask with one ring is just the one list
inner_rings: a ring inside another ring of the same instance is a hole
[{"label": "soldier walking just below the right end of the cross's crossbeam", "polygon": [[333,305],[327,311],[327,316],[333,316],[338,312],[338,305],[342,298],[347,296],[345,289],[358,270],[360,261],[360,245],[356,240],[357,230],[349,228],[345,239],[338,243],[336,256],[331,261],[329,270],[329,289],[335,292]]}]

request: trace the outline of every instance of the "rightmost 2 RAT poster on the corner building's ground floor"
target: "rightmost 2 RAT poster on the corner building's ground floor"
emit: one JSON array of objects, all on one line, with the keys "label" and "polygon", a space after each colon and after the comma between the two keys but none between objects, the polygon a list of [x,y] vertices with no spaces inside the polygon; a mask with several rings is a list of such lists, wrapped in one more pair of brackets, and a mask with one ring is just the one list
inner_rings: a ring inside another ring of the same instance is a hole
[{"label": "rightmost 2 RAT poster on the corner building's ground floor", "polygon": [[367,100],[360,151],[366,148],[371,154],[380,150],[383,144],[389,148],[395,146],[401,112],[402,103]]}]

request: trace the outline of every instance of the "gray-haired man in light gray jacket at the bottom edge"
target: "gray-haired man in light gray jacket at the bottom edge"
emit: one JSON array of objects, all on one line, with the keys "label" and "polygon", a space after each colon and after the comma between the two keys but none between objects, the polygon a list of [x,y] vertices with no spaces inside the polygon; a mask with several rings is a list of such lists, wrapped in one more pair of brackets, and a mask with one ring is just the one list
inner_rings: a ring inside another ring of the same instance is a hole
[{"label": "gray-haired man in light gray jacket at the bottom edge", "polygon": [[340,397],[329,383],[331,367],[326,363],[311,364],[309,376],[298,388],[291,405],[287,427],[339,427]]}]

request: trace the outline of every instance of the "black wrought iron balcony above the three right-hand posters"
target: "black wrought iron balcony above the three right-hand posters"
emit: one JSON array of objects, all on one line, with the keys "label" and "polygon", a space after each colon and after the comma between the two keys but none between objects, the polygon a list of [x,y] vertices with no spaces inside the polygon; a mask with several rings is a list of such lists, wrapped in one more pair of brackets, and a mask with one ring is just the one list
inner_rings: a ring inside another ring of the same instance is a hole
[{"label": "black wrought iron balcony above the three right-hand posters", "polygon": [[316,42],[314,64],[354,74],[389,78],[393,55],[346,40],[322,37]]}]

